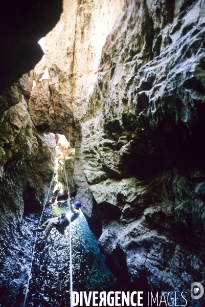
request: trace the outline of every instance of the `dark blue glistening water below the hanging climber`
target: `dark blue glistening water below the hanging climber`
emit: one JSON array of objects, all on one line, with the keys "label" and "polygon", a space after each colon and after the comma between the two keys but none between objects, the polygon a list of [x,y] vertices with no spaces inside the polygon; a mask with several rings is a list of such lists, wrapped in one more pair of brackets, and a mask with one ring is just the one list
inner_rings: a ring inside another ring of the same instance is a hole
[{"label": "dark blue glistening water below the hanging climber", "polygon": [[[58,203],[55,207],[48,208],[42,221],[61,215],[65,207],[65,203]],[[89,230],[82,212],[72,223],[71,231],[73,291],[126,291],[123,282],[106,267],[105,256],[100,253],[98,247],[98,238]],[[35,234],[32,240],[34,236]],[[54,228],[47,240],[37,241],[27,306],[69,306],[69,267],[69,227],[66,228],[64,235]],[[22,293],[18,295],[16,306],[22,306],[26,285],[27,280],[22,283]]]}]

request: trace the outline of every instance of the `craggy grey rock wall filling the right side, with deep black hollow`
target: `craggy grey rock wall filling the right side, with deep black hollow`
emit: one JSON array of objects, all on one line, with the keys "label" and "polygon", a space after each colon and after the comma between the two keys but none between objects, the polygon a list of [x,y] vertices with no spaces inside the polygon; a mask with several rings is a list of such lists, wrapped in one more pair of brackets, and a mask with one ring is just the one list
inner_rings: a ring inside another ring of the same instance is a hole
[{"label": "craggy grey rock wall filling the right side, with deep black hollow", "polygon": [[101,115],[82,124],[99,245],[152,289],[204,282],[203,7],[130,2],[103,48]]}]

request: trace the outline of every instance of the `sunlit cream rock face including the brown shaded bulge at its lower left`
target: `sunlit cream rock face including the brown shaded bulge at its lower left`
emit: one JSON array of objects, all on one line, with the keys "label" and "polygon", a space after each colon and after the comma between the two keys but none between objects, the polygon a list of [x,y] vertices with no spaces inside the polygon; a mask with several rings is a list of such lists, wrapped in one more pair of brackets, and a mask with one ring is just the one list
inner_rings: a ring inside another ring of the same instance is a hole
[{"label": "sunlit cream rock face including the brown shaded bulge at its lower left", "polygon": [[89,98],[97,81],[102,47],[121,8],[121,0],[65,0],[59,23],[45,38],[50,78],[34,87],[29,113],[35,126],[64,134],[72,146],[80,138],[80,122],[92,109]]}]

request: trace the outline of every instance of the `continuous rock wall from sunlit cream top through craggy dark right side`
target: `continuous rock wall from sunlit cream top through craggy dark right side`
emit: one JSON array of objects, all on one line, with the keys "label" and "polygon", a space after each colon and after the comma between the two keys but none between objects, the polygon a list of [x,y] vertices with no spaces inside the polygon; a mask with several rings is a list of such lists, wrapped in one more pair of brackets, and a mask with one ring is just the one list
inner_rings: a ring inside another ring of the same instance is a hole
[{"label": "continuous rock wall from sunlit cream top through craggy dark right side", "polygon": [[83,210],[101,218],[112,264],[151,289],[189,291],[204,282],[205,2],[115,5],[93,45],[103,7],[99,18],[97,1],[76,2],[69,19],[64,2],[46,38],[50,77],[32,91],[29,112],[76,145],[74,182],[83,170],[78,191],[84,184],[94,200],[86,196]]}]

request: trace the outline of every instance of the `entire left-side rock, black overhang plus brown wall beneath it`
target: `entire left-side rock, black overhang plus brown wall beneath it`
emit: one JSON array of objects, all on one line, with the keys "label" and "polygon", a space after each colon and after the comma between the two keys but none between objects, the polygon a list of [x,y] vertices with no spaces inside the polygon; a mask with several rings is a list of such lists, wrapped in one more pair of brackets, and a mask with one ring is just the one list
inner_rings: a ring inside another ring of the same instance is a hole
[{"label": "entire left-side rock, black overhang plus brown wall beneath it", "polygon": [[20,222],[24,203],[25,210],[32,210],[37,204],[39,206],[51,179],[55,137],[37,131],[31,121],[27,102],[33,86],[33,72],[27,72],[43,55],[38,40],[52,30],[61,12],[62,1],[59,0],[42,0],[38,4],[11,0],[1,6],[2,239],[5,235],[10,236]]}]

